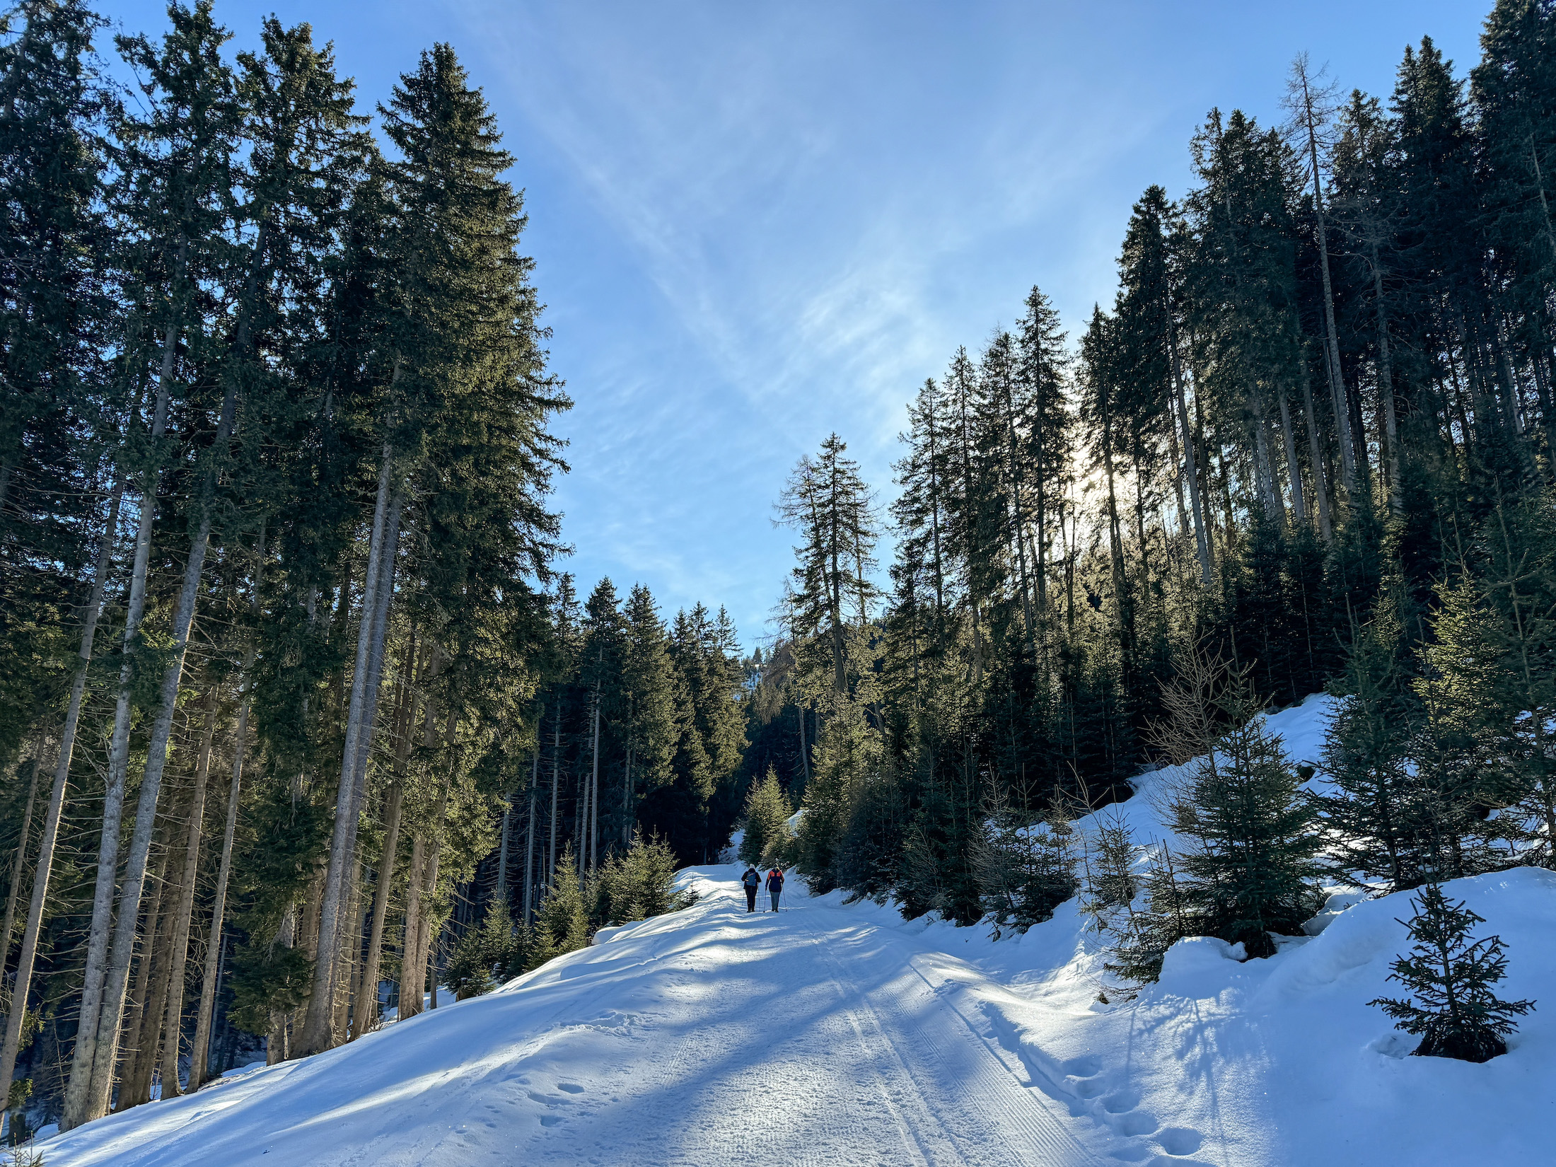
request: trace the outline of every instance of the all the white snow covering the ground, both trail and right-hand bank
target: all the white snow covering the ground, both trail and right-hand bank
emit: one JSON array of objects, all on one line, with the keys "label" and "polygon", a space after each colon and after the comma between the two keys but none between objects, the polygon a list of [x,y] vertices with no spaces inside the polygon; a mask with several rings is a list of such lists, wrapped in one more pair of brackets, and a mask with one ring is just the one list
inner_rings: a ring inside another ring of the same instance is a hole
[{"label": "all the white snow covering the ground, both trail and right-hand bank", "polygon": [[[1330,708],[1270,724],[1312,759]],[[1170,780],[1100,814],[1164,837],[1151,792]],[[1366,1005],[1400,994],[1408,895],[1337,896],[1319,935],[1268,960],[1181,941],[1123,1001],[1075,901],[994,941],[794,878],[783,912],[747,915],[738,878],[688,868],[702,899],[685,912],[39,1148],[50,1167],[1551,1162],[1551,873],[1447,885],[1506,941],[1503,996],[1550,997],[1484,1066],[1405,1057],[1414,1041]]]}]

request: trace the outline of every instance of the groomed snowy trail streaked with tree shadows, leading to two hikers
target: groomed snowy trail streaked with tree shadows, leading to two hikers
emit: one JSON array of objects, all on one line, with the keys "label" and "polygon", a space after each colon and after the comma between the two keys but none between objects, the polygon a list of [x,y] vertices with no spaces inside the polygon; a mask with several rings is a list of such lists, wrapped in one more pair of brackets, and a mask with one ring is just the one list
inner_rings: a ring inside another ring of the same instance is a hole
[{"label": "groomed snowy trail streaked with tree shadows, leading to two hikers", "polygon": [[803,892],[747,915],[736,874],[683,873],[703,895],[686,912],[322,1057],[90,1123],[47,1144],[48,1164],[1097,1162],[1001,1047],[969,965]]}]

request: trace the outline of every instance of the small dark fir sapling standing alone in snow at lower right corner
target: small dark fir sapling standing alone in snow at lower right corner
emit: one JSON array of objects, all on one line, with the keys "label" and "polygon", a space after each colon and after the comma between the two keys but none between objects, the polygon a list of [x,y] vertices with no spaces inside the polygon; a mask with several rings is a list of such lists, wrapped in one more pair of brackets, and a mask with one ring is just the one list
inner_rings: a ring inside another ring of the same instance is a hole
[{"label": "small dark fir sapling standing alone in snow at lower right corner", "polygon": [[1492,991],[1508,969],[1502,938],[1470,940],[1470,929],[1486,921],[1463,901],[1449,902],[1436,884],[1422,887],[1411,902],[1416,915],[1399,923],[1416,944],[1394,962],[1388,979],[1414,996],[1368,1004],[1394,1018],[1396,1029],[1421,1035],[1419,1057],[1489,1061],[1506,1053],[1506,1036],[1519,1029],[1514,1018],[1530,1013],[1534,1002],[1500,1001]]}]

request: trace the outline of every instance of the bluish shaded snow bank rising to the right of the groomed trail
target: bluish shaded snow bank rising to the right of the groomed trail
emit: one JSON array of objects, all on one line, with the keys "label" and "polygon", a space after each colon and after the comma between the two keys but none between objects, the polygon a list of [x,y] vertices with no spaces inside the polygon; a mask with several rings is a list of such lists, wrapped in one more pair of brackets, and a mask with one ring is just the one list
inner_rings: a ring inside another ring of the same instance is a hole
[{"label": "bluish shaded snow bank rising to the right of the groomed trail", "polygon": [[[1319,756],[1333,710],[1326,696],[1271,714],[1296,762]],[[1158,806],[1172,767],[1137,795],[1081,818],[1130,823],[1137,843],[1172,839]],[[1315,780],[1321,781],[1321,780]],[[1120,1002],[1103,943],[1075,901],[1021,937],[896,924],[977,971],[969,987],[990,1032],[1030,1081],[1080,1128],[1113,1131],[1127,1162],[1220,1167],[1467,1167],[1556,1162],[1556,874],[1519,868],[1444,885],[1508,944],[1500,994],[1534,997],[1509,1052],[1484,1066],[1407,1057],[1416,1041],[1368,1001],[1404,996],[1390,963],[1408,948],[1407,893],[1344,907],[1316,937],[1239,963],[1225,943],[1186,940],[1161,982]],[[818,902],[839,899],[825,896]],[[1332,896],[1354,904],[1355,895]],[[890,926],[887,907],[854,909]],[[993,988],[991,988],[993,987]],[[1113,1004],[1100,1004],[1099,991]],[[1083,1072],[1085,1071],[1085,1072]],[[1156,1158],[1161,1156],[1161,1158]]]}]

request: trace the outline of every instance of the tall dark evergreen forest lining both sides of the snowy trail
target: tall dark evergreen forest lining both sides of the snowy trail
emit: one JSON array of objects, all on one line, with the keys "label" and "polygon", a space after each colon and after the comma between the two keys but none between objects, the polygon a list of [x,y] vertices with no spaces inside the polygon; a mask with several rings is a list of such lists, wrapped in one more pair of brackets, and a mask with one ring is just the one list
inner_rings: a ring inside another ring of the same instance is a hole
[{"label": "tall dark evergreen forest lining both sides of the snowy trail", "polygon": [[[1134,980],[1267,954],[1324,879],[1556,867],[1556,2],[1211,110],[1113,303],[1032,288],[904,386],[890,482],[832,434],[773,484],[750,654],[565,571],[573,401],[454,50],[364,96],[307,25],[229,40],[0,17],[12,1137],[674,910],[738,826],[909,916],[1081,892]],[[1318,792],[1257,714],[1321,691]],[[1078,864],[1072,817],[1197,756],[1197,846]]]}]

